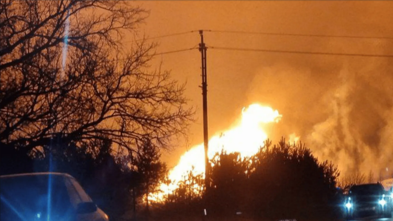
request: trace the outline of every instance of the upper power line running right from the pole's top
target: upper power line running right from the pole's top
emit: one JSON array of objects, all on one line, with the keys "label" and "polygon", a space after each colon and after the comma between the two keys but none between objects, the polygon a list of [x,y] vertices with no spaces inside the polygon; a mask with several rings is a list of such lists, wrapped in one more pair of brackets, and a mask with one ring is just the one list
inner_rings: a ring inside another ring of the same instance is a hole
[{"label": "upper power line running right from the pole's top", "polygon": [[293,33],[274,33],[274,32],[253,32],[253,31],[224,31],[224,30],[204,30],[217,33],[237,33],[237,34],[252,34],[252,35],[281,35],[281,36],[299,36],[299,37],[327,37],[327,38],[353,38],[353,39],[390,39],[393,37],[383,36],[355,36],[355,35],[307,35],[307,34],[293,34]]}]

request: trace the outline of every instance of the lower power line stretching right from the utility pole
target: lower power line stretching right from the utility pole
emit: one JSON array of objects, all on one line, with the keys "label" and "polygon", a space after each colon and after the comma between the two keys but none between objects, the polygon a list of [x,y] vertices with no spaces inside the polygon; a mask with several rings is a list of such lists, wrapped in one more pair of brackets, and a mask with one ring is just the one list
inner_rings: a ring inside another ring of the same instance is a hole
[{"label": "lower power line stretching right from the utility pole", "polygon": [[273,52],[273,53],[296,53],[296,54],[314,54],[314,55],[342,55],[342,56],[358,56],[358,57],[393,57],[393,55],[372,55],[372,54],[358,54],[358,53],[330,53],[330,52],[302,52],[302,51],[287,51],[287,50],[267,50],[267,49],[253,49],[253,48],[226,48],[226,47],[209,47],[217,50],[231,50],[231,51],[248,51],[248,52]]}]

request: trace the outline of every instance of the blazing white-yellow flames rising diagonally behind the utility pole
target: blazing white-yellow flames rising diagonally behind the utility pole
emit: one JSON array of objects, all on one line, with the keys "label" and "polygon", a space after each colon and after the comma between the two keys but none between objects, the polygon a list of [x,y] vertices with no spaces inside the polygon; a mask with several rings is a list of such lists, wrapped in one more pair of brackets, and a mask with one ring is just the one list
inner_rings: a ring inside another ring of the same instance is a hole
[{"label": "blazing white-yellow flames rising diagonally behind the utility pole", "polygon": [[[243,108],[241,120],[235,127],[223,132],[222,135],[215,135],[209,140],[208,157],[213,158],[215,153],[222,150],[227,153],[239,152],[242,157],[254,155],[268,138],[263,125],[277,123],[281,117],[282,115],[277,110],[258,103]],[[204,174],[204,168],[204,145],[199,144],[184,153],[178,164],[169,171],[168,178],[172,184],[161,184],[161,192],[155,196],[151,195],[150,199],[159,201],[163,195],[167,195],[177,188],[177,183],[182,180],[187,171],[193,170],[194,174]]]}]

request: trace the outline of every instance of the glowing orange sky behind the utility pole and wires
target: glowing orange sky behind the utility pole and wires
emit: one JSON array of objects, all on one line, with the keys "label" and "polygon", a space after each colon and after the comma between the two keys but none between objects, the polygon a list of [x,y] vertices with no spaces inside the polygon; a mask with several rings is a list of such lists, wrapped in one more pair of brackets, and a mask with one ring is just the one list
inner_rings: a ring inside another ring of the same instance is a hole
[{"label": "glowing orange sky behind the utility pole and wires", "polygon": [[[393,37],[393,1],[149,0],[132,4],[151,10],[140,29],[149,37],[196,29]],[[191,48],[200,39],[198,33],[189,33],[157,41],[160,43],[157,52],[166,52]],[[393,54],[392,39],[205,33],[205,42],[208,46],[239,48]],[[362,140],[360,145],[366,145],[376,155],[385,153],[384,149],[393,145],[384,138],[393,136],[391,58],[208,49],[207,59],[210,135],[230,127],[239,118],[242,107],[261,102],[283,114],[282,121],[269,128],[272,138],[277,140],[296,132],[324,158],[340,161],[343,156],[336,153],[346,147],[339,147],[337,142],[325,146],[322,145],[325,141],[315,141],[321,133],[331,134],[329,136],[337,140],[359,138]],[[155,61],[163,61],[163,67],[171,70],[175,79],[187,81],[185,96],[190,99],[189,104],[196,107],[196,122],[190,127],[189,145],[201,143],[200,53],[193,50],[160,55]],[[337,99],[334,104],[333,98]],[[340,102],[342,105],[343,101],[349,109],[347,112],[337,105]],[[335,108],[338,111],[335,112]],[[345,129],[348,125],[354,127]],[[359,144],[349,142],[348,145],[351,152]],[[174,151],[164,153],[169,166],[173,166],[185,150],[185,144],[180,143]],[[362,155],[355,158],[355,162],[362,161]],[[384,158],[387,162],[390,159]]]}]

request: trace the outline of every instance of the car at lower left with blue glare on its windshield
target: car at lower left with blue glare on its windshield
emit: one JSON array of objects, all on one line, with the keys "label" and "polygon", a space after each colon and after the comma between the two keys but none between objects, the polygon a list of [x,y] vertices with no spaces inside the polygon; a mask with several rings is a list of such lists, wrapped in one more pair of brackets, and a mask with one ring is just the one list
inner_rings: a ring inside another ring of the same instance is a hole
[{"label": "car at lower left with blue glare on its windshield", "polygon": [[77,180],[66,173],[0,176],[2,221],[108,221]]}]

